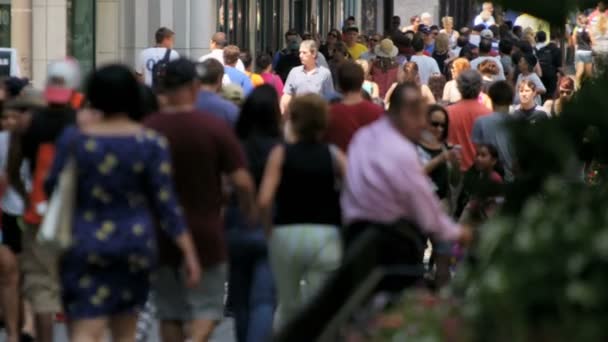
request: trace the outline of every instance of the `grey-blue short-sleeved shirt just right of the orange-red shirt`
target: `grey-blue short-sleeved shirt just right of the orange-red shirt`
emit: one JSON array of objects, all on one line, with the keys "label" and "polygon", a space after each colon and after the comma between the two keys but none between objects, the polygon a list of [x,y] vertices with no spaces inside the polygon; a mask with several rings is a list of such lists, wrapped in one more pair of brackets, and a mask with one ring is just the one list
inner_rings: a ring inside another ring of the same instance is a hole
[{"label": "grey-blue short-sleeved shirt just right of the orange-red shirt", "polygon": [[513,118],[508,114],[492,113],[475,120],[473,142],[477,145],[490,144],[498,150],[498,159],[505,169],[505,180],[513,181],[514,151],[506,125]]}]

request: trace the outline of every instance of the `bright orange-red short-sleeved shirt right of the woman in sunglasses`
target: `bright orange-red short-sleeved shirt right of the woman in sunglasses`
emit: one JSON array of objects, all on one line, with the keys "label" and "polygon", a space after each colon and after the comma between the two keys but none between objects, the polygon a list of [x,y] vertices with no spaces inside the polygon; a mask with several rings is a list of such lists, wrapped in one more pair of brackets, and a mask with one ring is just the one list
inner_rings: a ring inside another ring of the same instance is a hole
[{"label": "bright orange-red short-sleeved shirt right of the woman in sunglasses", "polygon": [[466,171],[473,166],[477,150],[473,144],[472,132],[475,121],[482,116],[488,115],[491,110],[475,100],[462,100],[448,106],[450,127],[448,141],[452,145],[462,147],[462,163],[460,170]]}]

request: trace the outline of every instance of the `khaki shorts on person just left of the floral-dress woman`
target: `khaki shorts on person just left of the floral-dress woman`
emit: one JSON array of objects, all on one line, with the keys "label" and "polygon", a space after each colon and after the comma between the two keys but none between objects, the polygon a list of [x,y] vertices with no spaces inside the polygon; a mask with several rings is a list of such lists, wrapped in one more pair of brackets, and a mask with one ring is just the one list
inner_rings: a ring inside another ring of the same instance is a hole
[{"label": "khaki shorts on person just left of the floral-dress woman", "polygon": [[23,295],[34,313],[61,312],[58,257],[36,241],[38,229],[23,225],[23,251],[19,256]]}]

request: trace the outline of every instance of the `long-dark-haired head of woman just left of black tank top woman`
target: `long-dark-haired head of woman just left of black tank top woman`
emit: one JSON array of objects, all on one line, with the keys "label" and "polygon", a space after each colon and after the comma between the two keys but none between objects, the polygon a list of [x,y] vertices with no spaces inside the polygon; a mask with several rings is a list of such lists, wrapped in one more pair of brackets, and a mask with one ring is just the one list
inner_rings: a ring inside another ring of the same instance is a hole
[{"label": "long-dark-haired head of woman just left of black tank top woman", "polygon": [[273,86],[256,87],[245,100],[236,122],[236,134],[244,140],[258,134],[278,138],[281,135],[279,96]]}]

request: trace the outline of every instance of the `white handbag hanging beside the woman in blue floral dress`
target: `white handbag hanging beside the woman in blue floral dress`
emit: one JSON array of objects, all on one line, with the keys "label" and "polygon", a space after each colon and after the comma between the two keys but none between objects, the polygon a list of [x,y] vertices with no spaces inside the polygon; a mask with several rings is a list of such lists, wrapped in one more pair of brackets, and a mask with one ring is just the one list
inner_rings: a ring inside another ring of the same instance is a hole
[{"label": "white handbag hanging beside the woman in blue floral dress", "polygon": [[56,252],[67,250],[72,244],[76,182],[76,160],[70,156],[59,174],[37,236],[41,245]]}]

